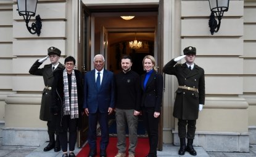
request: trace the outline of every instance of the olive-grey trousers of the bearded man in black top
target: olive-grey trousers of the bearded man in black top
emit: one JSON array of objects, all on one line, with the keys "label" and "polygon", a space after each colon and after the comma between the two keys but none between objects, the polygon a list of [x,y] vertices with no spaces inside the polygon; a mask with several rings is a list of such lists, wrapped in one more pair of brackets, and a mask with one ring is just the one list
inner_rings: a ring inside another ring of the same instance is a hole
[{"label": "olive-grey trousers of the bearded man in black top", "polygon": [[117,148],[118,153],[126,151],[126,123],[129,130],[129,154],[135,154],[135,148],[138,142],[137,128],[138,116],[134,115],[134,109],[115,109],[115,120],[117,121]]}]

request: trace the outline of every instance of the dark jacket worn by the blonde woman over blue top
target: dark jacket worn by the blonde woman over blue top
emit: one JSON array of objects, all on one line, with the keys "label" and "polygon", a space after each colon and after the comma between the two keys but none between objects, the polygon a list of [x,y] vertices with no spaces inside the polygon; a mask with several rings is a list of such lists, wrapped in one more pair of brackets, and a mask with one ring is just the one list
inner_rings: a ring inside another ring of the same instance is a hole
[{"label": "dark jacket worn by the blonde woman over blue top", "polygon": [[146,74],[141,75],[142,99],[141,107],[154,107],[155,112],[161,112],[163,95],[163,76],[153,71],[144,88]]}]

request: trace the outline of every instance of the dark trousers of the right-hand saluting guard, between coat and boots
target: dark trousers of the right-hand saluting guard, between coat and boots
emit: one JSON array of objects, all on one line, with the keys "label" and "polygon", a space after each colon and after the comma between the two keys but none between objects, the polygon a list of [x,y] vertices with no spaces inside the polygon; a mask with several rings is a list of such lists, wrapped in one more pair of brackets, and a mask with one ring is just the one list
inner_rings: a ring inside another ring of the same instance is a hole
[{"label": "dark trousers of the right-hand saluting guard, between coat and boots", "polygon": [[[188,124],[188,132],[186,126]],[[194,139],[196,132],[196,120],[178,120],[178,135],[180,138],[187,137],[188,139]]]}]

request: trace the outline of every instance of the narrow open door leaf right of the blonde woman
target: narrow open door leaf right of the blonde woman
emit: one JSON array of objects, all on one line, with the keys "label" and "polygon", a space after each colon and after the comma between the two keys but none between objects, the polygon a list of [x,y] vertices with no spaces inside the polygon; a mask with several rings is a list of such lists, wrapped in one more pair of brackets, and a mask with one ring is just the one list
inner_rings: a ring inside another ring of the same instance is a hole
[{"label": "narrow open door leaf right of the blonde woman", "polygon": [[[163,74],[163,0],[159,0],[159,9],[158,9],[158,26],[157,26],[157,71],[160,74]],[[162,101],[163,102],[163,101]],[[162,111],[163,113],[163,107]],[[163,115],[160,115],[159,123],[159,140],[157,149],[163,150]]]}]

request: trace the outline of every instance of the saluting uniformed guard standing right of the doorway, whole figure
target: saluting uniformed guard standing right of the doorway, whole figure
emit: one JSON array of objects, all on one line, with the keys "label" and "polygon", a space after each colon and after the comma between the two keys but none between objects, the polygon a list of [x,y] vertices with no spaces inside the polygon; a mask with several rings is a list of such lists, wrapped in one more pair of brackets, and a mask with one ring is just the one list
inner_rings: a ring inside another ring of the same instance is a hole
[{"label": "saluting uniformed guard standing right of the doorway, whole figure", "polygon": [[[165,74],[175,75],[178,79],[178,90],[173,108],[173,116],[178,118],[178,136],[180,137],[179,155],[188,151],[191,155],[197,155],[192,144],[196,132],[196,120],[199,110],[205,101],[205,79],[204,69],[194,64],[196,48],[186,47],[184,55],[171,59],[164,67]],[[185,58],[186,63],[176,64]],[[188,124],[188,132],[186,125]],[[186,137],[188,144],[186,146]]]}]

